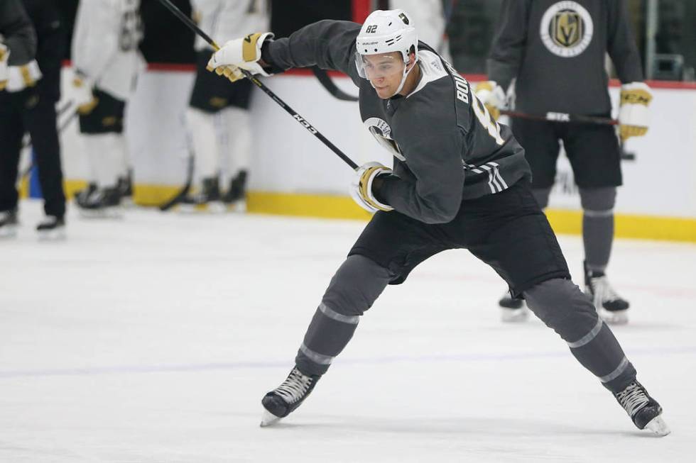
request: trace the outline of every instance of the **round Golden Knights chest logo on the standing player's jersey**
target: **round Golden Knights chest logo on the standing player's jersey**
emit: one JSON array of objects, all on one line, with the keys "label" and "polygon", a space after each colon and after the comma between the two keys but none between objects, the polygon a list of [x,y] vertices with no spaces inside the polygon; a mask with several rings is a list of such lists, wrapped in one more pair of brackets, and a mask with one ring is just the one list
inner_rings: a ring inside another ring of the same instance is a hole
[{"label": "round Golden Knights chest logo on the standing player's jersey", "polygon": [[577,1],[559,1],[544,13],[541,40],[554,55],[575,57],[592,42],[592,16]]}]

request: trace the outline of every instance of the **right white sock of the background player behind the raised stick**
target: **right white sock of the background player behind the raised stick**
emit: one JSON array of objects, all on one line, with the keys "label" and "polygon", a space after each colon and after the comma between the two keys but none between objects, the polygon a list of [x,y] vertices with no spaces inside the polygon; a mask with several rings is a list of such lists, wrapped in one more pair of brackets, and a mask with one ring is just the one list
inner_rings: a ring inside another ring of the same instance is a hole
[{"label": "right white sock of the background player behind the raised stick", "polygon": [[249,170],[251,115],[246,109],[225,108],[222,124],[227,135],[227,174],[235,177],[240,170]]}]

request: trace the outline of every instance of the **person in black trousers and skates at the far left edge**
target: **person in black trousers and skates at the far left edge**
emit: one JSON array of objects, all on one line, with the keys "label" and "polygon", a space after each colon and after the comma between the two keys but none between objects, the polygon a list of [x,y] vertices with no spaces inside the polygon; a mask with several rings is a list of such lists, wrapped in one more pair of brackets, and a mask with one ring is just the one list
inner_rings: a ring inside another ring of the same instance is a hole
[{"label": "person in black trousers and skates at the far left edge", "polygon": [[[0,64],[0,87],[4,87],[0,91],[0,236],[16,233],[16,180],[22,139],[28,132],[36,155],[46,214],[36,230],[40,238],[64,238],[65,194],[55,104],[60,99],[60,61],[65,30],[54,0],[12,0],[2,1],[0,5],[0,18],[4,23],[0,33],[6,36],[4,40],[9,45],[0,46],[0,54],[4,55],[0,58],[3,63]],[[31,21],[29,26],[23,11]],[[1,77],[4,73],[6,79]]]}]

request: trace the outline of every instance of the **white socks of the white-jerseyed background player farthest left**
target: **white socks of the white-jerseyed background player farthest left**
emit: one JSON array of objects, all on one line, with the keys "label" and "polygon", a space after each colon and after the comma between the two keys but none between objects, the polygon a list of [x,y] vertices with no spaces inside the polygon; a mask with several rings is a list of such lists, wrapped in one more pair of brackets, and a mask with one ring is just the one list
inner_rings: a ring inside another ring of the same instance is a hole
[{"label": "white socks of the white-jerseyed background player farthest left", "polygon": [[123,135],[100,133],[84,135],[87,159],[99,188],[114,188],[123,169]]}]

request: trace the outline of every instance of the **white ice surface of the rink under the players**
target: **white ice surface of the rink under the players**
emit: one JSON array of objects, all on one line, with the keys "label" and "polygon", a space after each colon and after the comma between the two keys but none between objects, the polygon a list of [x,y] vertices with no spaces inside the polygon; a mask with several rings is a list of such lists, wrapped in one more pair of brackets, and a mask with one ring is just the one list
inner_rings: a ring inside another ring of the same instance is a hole
[{"label": "white ice surface of the rink under the players", "polygon": [[[696,246],[617,240],[632,303],[614,333],[673,433],[637,430],[539,320],[504,325],[502,281],[466,251],[390,286],[302,407],[259,428],[362,226],[36,201],[0,241],[0,462],[692,462]],[[576,281],[582,242],[561,237]]]}]

